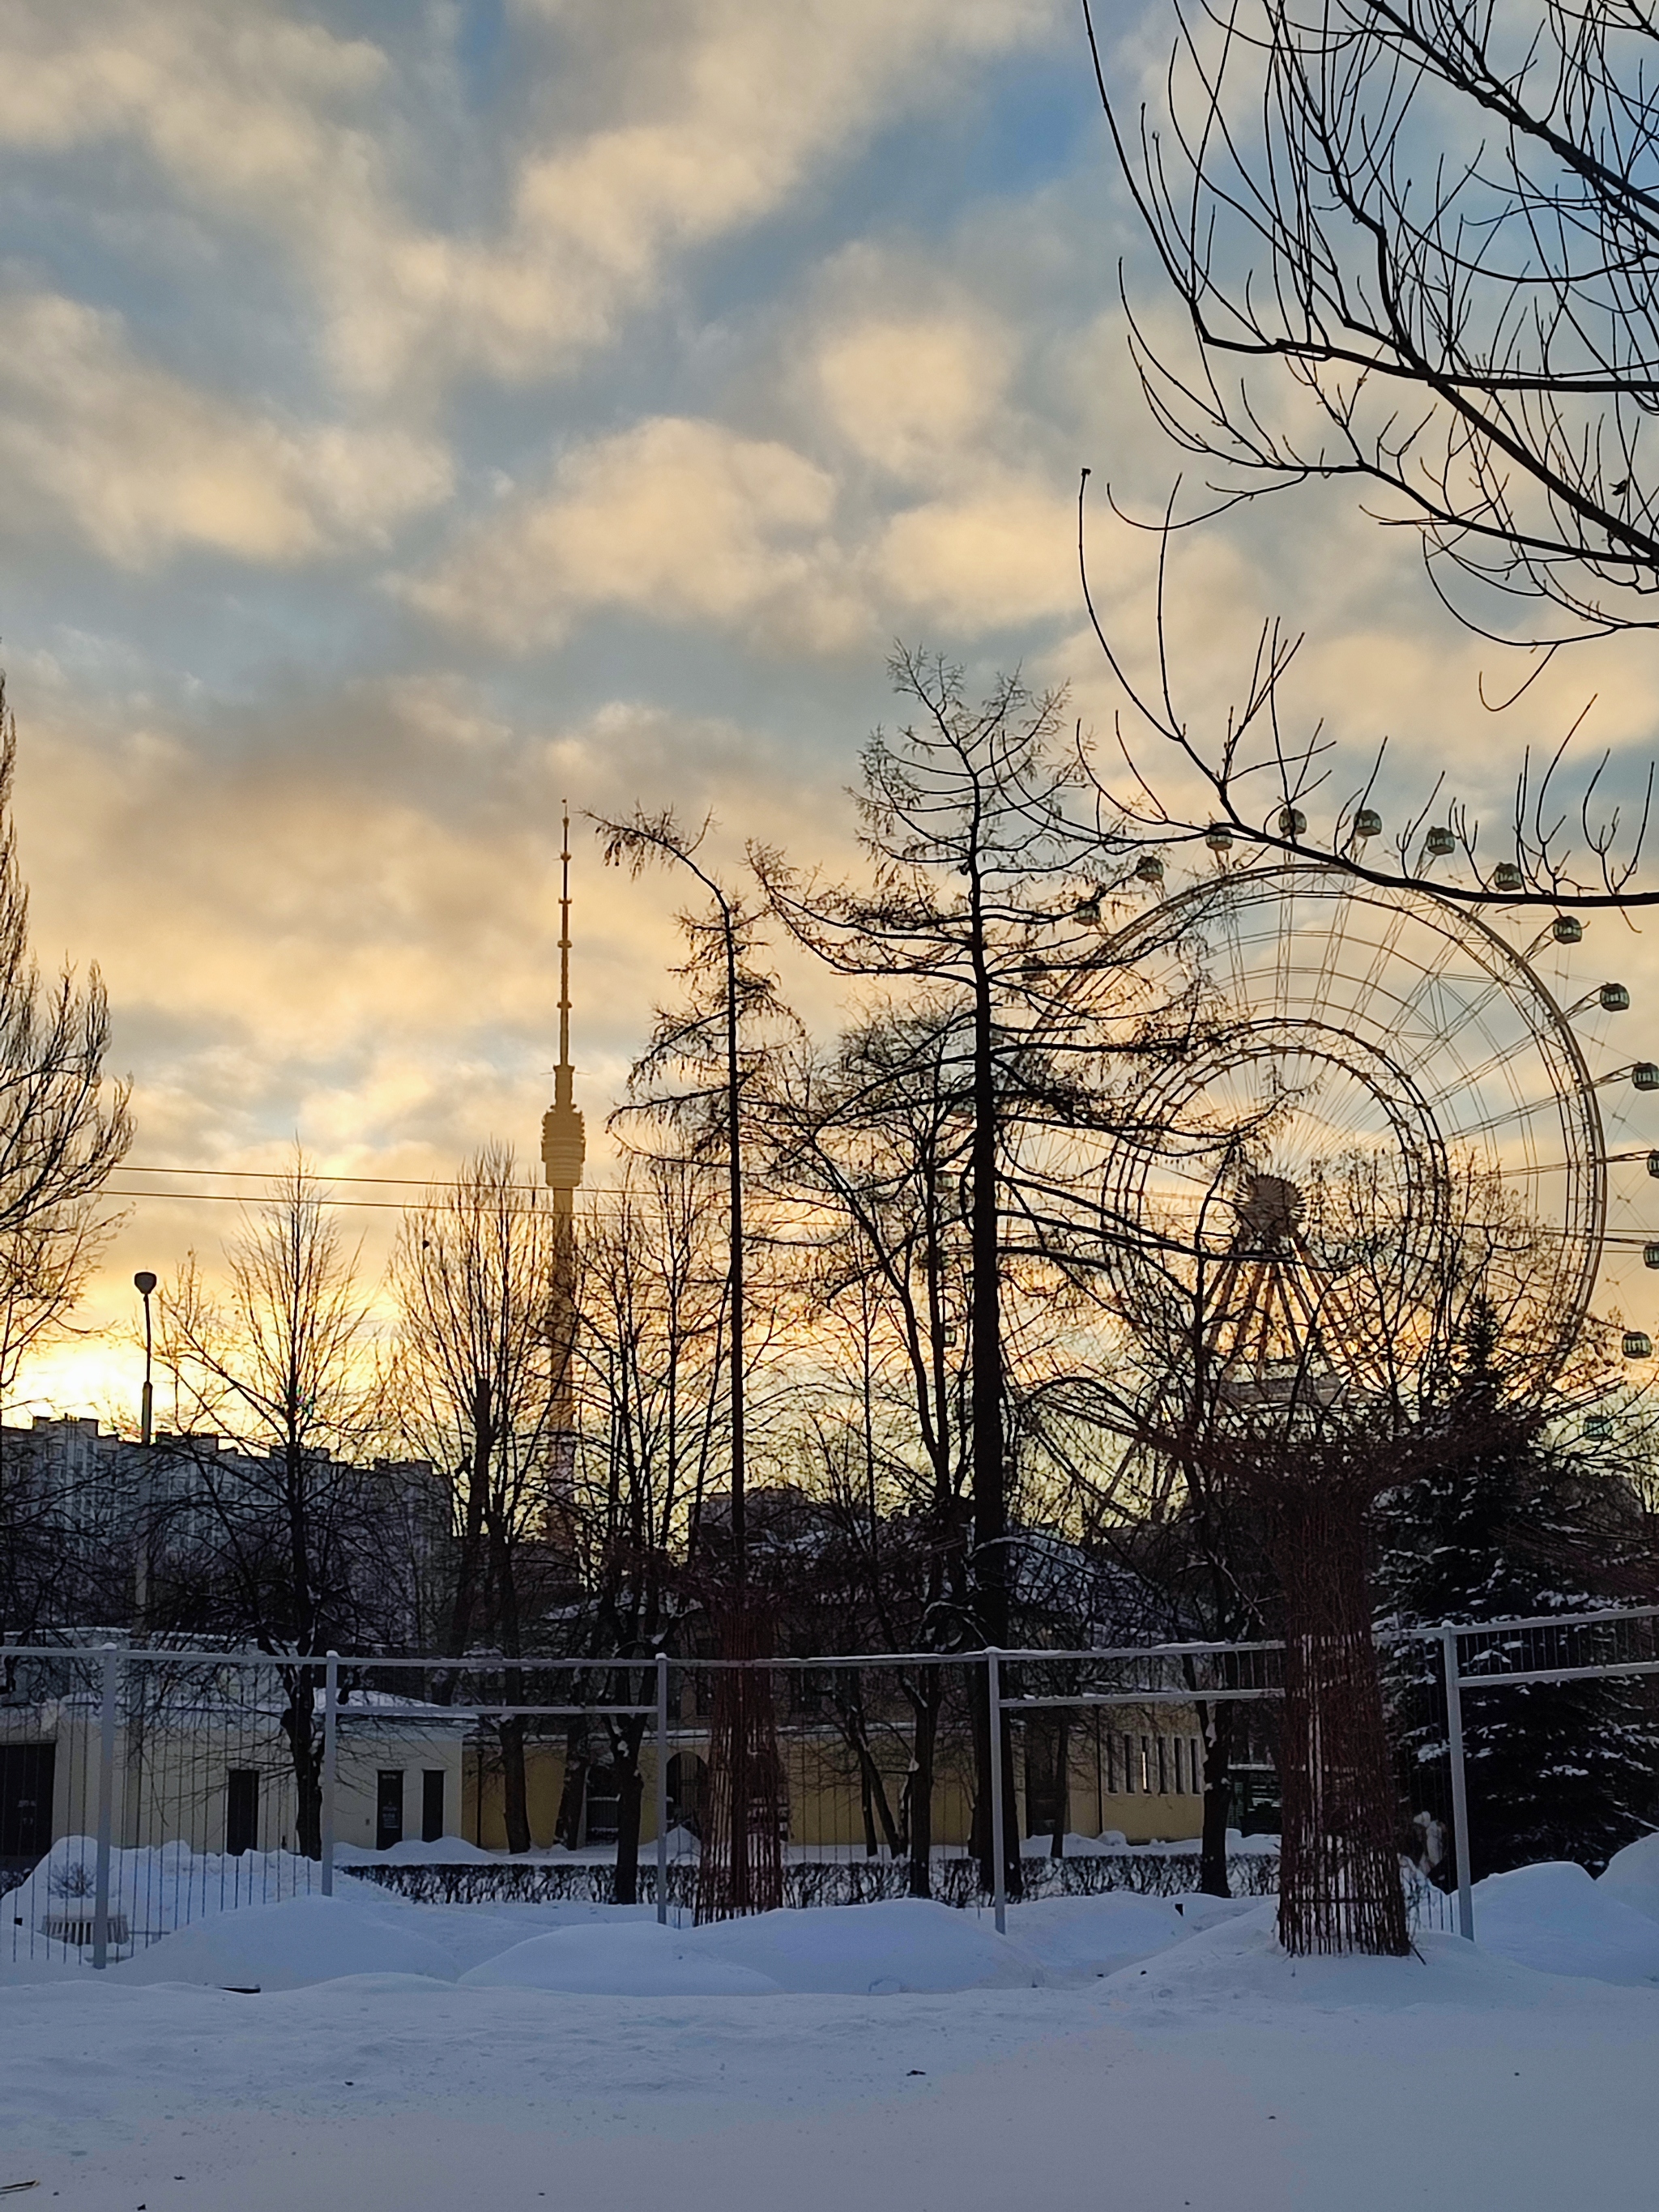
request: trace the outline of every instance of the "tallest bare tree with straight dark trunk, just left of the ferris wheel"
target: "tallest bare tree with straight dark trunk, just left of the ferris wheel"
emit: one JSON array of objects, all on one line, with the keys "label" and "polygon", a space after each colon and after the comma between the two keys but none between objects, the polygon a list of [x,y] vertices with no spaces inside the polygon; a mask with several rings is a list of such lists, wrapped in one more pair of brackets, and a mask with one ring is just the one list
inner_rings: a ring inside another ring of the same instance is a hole
[{"label": "tallest bare tree with straight dark trunk, just left of the ferris wheel", "polygon": [[[894,688],[916,710],[896,739],[863,754],[858,814],[869,885],[799,876],[757,854],[790,933],[827,967],[880,984],[900,1015],[918,1099],[949,1102],[967,1183],[967,1358],[973,1544],[973,1639],[1006,1646],[1011,1588],[1011,1438],[1006,1285],[1026,1206],[1022,1152],[1033,1130],[1091,1121],[1106,1042],[1102,914],[1133,878],[1130,841],[1104,812],[1082,825],[1082,761],[1064,739],[1062,695],[1000,679],[971,703],[962,672],[900,650]],[[896,1084],[898,1064],[869,1082]],[[849,1190],[843,1188],[843,1201]],[[916,1338],[920,1345],[920,1338]],[[922,1378],[938,1400],[936,1378]],[[920,1407],[918,1398],[918,1407]],[[1011,1774],[1006,1743],[1004,1767]],[[991,1880],[989,1721],[980,1728],[980,1858]],[[1020,1882],[1018,1856],[1006,1878]]]}]

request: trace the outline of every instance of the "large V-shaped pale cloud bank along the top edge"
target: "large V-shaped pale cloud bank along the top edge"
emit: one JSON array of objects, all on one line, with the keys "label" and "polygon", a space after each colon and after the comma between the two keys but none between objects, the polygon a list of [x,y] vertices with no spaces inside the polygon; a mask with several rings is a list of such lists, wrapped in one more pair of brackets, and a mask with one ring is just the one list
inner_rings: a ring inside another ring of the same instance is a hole
[{"label": "large V-shaped pale cloud bank along the top edge", "polygon": [[385,53],[279,0],[13,0],[0,144],[137,139],[197,219],[281,239],[352,389],[529,376],[615,336],[677,254],[776,212],[896,113],[947,97],[960,64],[1062,20],[1060,0],[679,0],[624,44],[613,11],[520,13],[571,40],[566,111],[595,119],[507,150],[493,230],[411,217]]}]

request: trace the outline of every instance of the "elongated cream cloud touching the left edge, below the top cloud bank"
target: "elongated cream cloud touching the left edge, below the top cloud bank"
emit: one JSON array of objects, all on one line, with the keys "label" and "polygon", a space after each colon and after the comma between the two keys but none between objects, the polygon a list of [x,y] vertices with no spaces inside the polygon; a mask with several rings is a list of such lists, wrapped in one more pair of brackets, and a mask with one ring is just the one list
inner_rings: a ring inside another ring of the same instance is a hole
[{"label": "elongated cream cloud touching the left edge, below the top cloud bank", "polygon": [[442,447],[250,414],[139,361],[115,314],[44,292],[13,294],[0,314],[11,504],[33,495],[124,566],[184,544],[257,562],[374,544],[449,491]]}]

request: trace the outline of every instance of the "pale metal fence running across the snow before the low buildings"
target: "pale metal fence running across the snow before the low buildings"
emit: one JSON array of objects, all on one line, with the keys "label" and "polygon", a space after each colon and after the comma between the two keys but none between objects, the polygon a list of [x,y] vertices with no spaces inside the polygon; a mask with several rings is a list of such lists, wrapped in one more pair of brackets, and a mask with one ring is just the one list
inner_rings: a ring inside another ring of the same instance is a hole
[{"label": "pale metal fence running across the snow before the low buildings", "polygon": [[[1418,1794],[1438,1790],[1420,1818],[1444,1814],[1451,1838],[1449,1863],[1411,1878],[1413,1916],[1444,1924],[1453,1889],[1471,1936],[1464,1699],[1659,1672],[1659,1608],[1409,1635],[1440,1652],[1444,1759]],[[679,1913],[723,1663],[0,1646],[0,1955],[104,1966],[239,1905],[327,1896],[343,1874],[431,1902]],[[785,1902],[931,1896],[989,1905],[998,1927],[1009,1851],[1026,1898],[1194,1889],[1199,1712],[1267,1714],[1283,1694],[1272,1641],[752,1666],[776,1717]],[[1011,1741],[982,1809],[975,1710]],[[1270,1893],[1272,1838],[1245,1838],[1230,1880]]]}]

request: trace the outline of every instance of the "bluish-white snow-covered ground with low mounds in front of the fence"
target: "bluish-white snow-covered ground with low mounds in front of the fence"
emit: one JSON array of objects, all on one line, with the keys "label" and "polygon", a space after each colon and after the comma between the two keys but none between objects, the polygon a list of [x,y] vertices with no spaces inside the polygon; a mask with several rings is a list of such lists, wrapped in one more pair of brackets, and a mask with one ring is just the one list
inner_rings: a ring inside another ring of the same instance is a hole
[{"label": "bluish-white snow-covered ground with low mounds in front of the fence", "polygon": [[[0,2183],[64,2212],[1650,2203],[1659,1858],[1478,1909],[1491,1944],[1292,1964],[1265,1907],[1126,1896],[1018,1907],[1006,1942],[914,1905],[659,1931],[301,1898],[0,1989]],[[343,1978],[206,1986],[283,1962]],[[692,1993],[717,1969],[745,1993]]]}]

